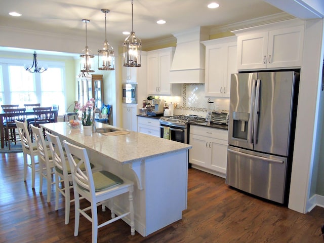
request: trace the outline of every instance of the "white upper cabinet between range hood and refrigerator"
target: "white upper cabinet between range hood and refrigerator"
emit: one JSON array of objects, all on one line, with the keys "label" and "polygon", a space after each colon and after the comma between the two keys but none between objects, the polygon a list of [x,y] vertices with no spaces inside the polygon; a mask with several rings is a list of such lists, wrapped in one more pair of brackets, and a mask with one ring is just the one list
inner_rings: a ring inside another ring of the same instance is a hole
[{"label": "white upper cabinet between range hood and refrigerator", "polygon": [[231,73],[237,73],[237,37],[202,42],[205,55],[205,95],[229,97]]}]

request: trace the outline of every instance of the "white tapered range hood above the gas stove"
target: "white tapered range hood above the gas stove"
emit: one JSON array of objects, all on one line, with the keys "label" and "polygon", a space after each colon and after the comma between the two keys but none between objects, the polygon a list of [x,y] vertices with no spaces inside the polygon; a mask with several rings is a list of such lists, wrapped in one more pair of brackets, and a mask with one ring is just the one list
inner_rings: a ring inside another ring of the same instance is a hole
[{"label": "white tapered range hood above the gas stove", "polygon": [[209,29],[196,27],[173,35],[177,38],[177,47],[170,69],[170,83],[205,83],[205,46],[200,42],[209,39]]}]

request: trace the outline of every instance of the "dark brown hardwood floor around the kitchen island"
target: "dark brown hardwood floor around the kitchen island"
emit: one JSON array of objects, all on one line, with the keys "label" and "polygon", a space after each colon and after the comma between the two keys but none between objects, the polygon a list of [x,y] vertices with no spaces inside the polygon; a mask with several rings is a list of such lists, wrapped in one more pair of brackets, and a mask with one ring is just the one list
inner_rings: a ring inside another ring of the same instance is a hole
[{"label": "dark brown hardwood floor around the kitchen island", "polygon": [[[74,207],[64,224],[64,199],[55,211],[55,188],[46,203],[46,186],[39,194],[37,174],[23,181],[22,153],[0,154],[0,242],[90,242],[91,223],[80,216],[73,236]],[[85,203],[83,203],[85,204]],[[110,213],[99,210],[99,220]],[[158,220],[158,219],[156,219]],[[122,220],[99,229],[98,242],[324,242],[320,227],[324,209],[300,214],[228,187],[225,180],[195,169],[188,172],[188,209],[179,220],[142,237]]]}]

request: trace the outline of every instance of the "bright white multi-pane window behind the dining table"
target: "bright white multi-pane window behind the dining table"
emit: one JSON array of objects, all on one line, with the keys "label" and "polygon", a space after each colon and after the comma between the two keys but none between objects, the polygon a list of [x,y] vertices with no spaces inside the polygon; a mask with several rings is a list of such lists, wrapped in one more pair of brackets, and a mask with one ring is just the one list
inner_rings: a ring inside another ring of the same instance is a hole
[{"label": "bright white multi-pane window behind the dining table", "polygon": [[[0,59],[0,104],[41,103],[59,105],[59,114],[65,111],[64,63],[51,63],[43,73],[27,72],[24,60]],[[8,80],[9,85],[4,85]]]}]

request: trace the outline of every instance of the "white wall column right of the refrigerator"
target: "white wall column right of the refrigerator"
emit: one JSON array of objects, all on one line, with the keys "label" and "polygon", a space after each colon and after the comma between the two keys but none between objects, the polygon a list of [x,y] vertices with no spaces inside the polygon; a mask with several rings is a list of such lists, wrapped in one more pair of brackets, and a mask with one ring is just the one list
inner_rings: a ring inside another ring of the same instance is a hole
[{"label": "white wall column right of the refrigerator", "polygon": [[[289,208],[306,213],[309,205],[310,187],[314,163],[318,163],[319,144],[316,134],[321,128],[318,110],[321,79],[319,70],[322,58],[323,20],[307,20],[300,76],[296,137],[289,195]],[[320,133],[319,133],[320,136]]]}]

